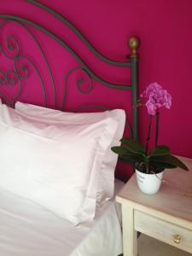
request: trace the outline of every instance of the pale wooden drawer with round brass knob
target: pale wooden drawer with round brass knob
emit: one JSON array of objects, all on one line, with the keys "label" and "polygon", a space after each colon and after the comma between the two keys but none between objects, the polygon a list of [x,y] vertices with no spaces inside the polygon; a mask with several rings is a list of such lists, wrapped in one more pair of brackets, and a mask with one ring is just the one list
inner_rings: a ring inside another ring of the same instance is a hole
[{"label": "pale wooden drawer with round brass knob", "polygon": [[143,234],[192,253],[192,230],[137,210],[134,212],[134,227]]}]

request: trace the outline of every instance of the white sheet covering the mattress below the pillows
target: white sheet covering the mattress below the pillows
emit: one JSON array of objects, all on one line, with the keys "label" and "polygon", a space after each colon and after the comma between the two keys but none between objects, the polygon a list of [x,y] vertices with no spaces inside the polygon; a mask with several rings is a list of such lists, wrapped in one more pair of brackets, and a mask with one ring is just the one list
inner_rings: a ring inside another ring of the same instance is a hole
[{"label": "white sheet covering the mattress below the pillows", "polygon": [[[116,190],[123,183],[116,180]],[[0,189],[0,256],[117,256],[122,237],[117,212],[108,201],[93,224],[72,226],[52,212]]]}]

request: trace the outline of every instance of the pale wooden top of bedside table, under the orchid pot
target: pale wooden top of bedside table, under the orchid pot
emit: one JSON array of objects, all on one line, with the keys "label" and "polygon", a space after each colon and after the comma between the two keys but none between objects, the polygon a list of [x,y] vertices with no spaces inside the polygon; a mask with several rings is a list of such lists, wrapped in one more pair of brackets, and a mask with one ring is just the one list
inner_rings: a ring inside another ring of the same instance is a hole
[{"label": "pale wooden top of bedside table, under the orchid pot", "polygon": [[189,172],[180,168],[165,170],[163,182],[157,194],[144,195],[140,192],[134,174],[119,191],[116,200],[120,203],[130,202],[137,209],[148,207],[151,210],[181,218],[187,222],[189,230],[192,230],[192,160],[180,156],[178,158],[189,167]]}]

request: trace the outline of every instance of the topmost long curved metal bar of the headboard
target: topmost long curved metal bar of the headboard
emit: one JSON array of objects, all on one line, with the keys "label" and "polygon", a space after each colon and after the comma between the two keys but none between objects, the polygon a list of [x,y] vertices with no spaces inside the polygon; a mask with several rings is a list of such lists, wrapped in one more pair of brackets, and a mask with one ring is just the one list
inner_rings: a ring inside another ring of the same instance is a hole
[{"label": "topmost long curved metal bar of the headboard", "polygon": [[47,11],[49,14],[55,16],[57,19],[61,20],[62,23],[67,25],[81,40],[86,44],[86,46],[102,61],[107,62],[108,64],[114,65],[114,66],[119,66],[119,67],[131,67],[130,62],[125,62],[125,61],[113,61],[111,59],[108,59],[106,56],[102,55],[99,53],[96,48],[90,44],[90,41],[84,37],[84,35],[79,32],[79,29],[74,26],[69,20],[67,20],[65,17],[63,17],[61,14],[57,13],[55,10],[50,9],[47,5],[38,3],[37,1],[34,0],[26,0],[28,3],[32,3],[33,5],[38,6],[38,8],[44,9]]}]

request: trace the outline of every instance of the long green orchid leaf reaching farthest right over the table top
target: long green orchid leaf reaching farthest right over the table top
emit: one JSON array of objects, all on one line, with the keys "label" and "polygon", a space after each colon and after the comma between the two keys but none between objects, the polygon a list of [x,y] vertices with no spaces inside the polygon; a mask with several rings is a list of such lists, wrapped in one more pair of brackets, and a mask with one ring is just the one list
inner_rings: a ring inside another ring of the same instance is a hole
[{"label": "long green orchid leaf reaching farthest right over the table top", "polygon": [[172,166],[178,166],[185,171],[189,171],[188,167],[185,166],[181,160],[178,160],[177,157],[173,156],[172,154],[152,156],[150,158],[150,162],[166,163]]}]

